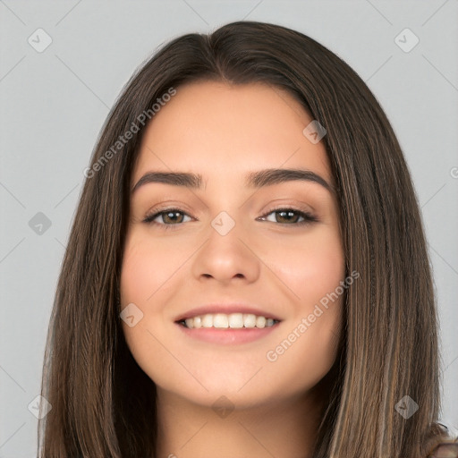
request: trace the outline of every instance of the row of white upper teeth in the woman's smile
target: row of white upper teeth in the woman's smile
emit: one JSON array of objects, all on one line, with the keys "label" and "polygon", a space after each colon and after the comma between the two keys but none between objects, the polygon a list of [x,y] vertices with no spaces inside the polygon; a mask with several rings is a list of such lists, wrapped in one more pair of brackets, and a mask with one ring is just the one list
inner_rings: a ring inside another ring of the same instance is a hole
[{"label": "row of white upper teeth in the woman's smile", "polygon": [[184,320],[186,327],[190,329],[199,327],[216,327],[219,329],[240,329],[242,327],[272,327],[277,323],[274,318],[266,318],[253,315],[252,313],[208,313],[199,317]]}]

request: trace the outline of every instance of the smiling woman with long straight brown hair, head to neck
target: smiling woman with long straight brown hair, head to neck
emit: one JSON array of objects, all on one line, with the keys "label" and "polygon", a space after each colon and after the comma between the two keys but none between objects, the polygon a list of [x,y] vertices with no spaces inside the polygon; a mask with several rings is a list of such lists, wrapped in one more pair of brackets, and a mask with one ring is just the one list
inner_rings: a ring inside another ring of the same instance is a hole
[{"label": "smiling woman with long straight brown hair, head to neck", "polygon": [[250,21],[174,39],[84,174],[41,456],[458,455],[411,177],[327,48]]}]

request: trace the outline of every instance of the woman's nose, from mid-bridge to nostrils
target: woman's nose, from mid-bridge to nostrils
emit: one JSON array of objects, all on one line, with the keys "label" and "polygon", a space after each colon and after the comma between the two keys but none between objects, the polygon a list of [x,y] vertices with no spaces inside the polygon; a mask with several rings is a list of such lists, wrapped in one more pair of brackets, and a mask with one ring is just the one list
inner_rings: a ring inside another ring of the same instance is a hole
[{"label": "woman's nose, from mid-bridge to nostrils", "polygon": [[192,276],[199,281],[214,279],[228,284],[237,281],[255,282],[259,277],[261,259],[248,230],[222,212],[208,229],[207,240],[196,253]]}]

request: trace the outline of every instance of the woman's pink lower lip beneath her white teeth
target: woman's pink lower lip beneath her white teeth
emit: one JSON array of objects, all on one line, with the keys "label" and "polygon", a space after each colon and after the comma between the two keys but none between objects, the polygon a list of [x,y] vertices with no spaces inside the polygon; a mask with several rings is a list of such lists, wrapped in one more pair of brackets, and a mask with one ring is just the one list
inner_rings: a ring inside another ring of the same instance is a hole
[{"label": "woman's pink lower lip beneath her white teeth", "polygon": [[241,329],[233,328],[217,328],[217,327],[199,327],[190,329],[189,327],[183,327],[179,323],[175,323],[176,326],[180,327],[182,332],[189,337],[199,339],[204,342],[211,344],[248,344],[255,340],[261,339],[278,327],[279,323],[270,327],[247,327]]}]

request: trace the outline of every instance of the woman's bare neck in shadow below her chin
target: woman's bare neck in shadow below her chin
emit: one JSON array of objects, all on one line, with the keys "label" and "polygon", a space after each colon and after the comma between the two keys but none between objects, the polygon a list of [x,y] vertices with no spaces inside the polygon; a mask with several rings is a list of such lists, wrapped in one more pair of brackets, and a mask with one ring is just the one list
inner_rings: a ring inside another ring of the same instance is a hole
[{"label": "woman's bare neck in shadow below her chin", "polygon": [[215,411],[157,388],[157,456],[308,458],[322,402],[317,390],[243,410]]}]

